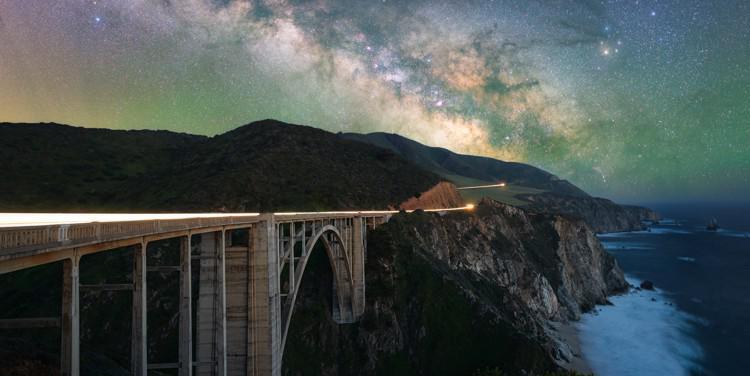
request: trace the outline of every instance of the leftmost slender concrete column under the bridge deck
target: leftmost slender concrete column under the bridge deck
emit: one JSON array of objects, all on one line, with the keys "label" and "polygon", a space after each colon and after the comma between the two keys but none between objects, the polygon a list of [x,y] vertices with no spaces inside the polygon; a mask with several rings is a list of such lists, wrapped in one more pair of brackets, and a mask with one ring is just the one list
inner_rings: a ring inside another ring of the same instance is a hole
[{"label": "leftmost slender concrete column under the bridge deck", "polygon": [[80,373],[80,295],[78,279],[78,250],[63,261],[62,288],[62,344],[60,373],[78,376]]}]

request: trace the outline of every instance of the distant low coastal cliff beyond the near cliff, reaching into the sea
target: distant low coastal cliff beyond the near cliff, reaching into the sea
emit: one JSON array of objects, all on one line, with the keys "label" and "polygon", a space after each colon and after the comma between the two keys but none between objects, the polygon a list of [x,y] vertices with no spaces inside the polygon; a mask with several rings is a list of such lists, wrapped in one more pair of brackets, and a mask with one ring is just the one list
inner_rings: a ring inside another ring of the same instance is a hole
[{"label": "distant low coastal cliff beyond the near cliff, reaching into the sea", "polygon": [[586,221],[597,233],[643,230],[644,220],[659,218],[651,209],[618,205],[598,197],[570,197],[555,194],[522,195],[532,211],[575,216]]}]

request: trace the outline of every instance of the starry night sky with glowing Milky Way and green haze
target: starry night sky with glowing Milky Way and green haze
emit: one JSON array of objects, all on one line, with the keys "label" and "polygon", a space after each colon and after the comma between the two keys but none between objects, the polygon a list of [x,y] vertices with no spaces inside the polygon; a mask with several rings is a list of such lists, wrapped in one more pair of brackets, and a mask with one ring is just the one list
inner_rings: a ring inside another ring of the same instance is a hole
[{"label": "starry night sky with glowing Milky Way and green haze", "polygon": [[750,1],[2,0],[0,121],[275,118],[750,200]]}]

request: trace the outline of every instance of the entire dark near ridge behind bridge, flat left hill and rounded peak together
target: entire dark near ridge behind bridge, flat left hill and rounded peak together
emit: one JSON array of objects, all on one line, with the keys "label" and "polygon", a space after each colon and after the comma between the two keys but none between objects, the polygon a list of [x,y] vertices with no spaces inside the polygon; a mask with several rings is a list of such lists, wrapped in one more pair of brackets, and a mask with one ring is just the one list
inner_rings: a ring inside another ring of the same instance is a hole
[{"label": "entire dark near ridge behind bridge, flat left hill and rounded peak together", "polygon": [[441,178],[396,154],[264,120],[212,138],[0,124],[2,211],[383,209]]}]

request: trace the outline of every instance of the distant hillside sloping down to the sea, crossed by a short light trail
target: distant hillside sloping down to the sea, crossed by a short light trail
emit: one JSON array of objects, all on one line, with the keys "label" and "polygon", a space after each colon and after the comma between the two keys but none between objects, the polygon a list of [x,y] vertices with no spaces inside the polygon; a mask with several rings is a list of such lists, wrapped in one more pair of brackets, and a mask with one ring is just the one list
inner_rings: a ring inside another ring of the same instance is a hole
[{"label": "distant hillside sloping down to the sea, crossed by a short light trail", "polygon": [[659,217],[647,208],[618,205],[608,199],[589,196],[567,180],[527,164],[457,154],[396,134],[340,133],[339,136],[392,150],[459,187],[506,183],[503,187],[460,190],[467,202],[479,202],[487,197],[535,212],[574,216],[588,222],[596,232],[639,230],[644,227],[643,220]]}]

